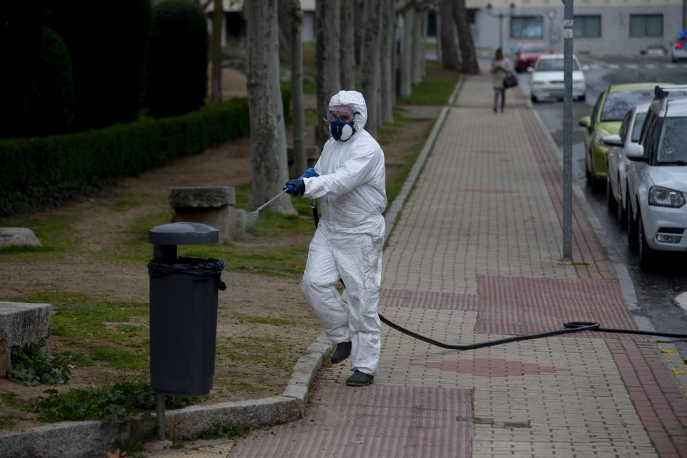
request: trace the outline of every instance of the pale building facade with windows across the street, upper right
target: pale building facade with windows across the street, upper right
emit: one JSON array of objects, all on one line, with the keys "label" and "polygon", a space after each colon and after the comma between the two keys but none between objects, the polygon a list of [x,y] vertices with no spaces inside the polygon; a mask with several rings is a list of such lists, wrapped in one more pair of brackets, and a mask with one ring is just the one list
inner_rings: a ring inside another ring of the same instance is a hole
[{"label": "pale building facade with windows across the street, upper right", "polygon": [[[560,0],[468,0],[466,6],[477,47],[495,49],[500,36],[505,52],[522,41],[563,52]],[[669,48],[683,28],[683,9],[682,0],[574,0],[574,53],[639,56],[649,45]]]}]

